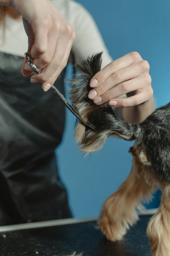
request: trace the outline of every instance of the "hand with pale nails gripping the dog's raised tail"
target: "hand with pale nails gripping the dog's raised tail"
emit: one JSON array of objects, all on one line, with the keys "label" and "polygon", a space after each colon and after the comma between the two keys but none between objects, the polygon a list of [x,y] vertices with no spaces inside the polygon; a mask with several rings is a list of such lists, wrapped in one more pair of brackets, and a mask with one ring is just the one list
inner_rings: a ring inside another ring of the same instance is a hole
[{"label": "hand with pale nails gripping the dog's raised tail", "polygon": [[[149,63],[139,53],[131,52],[109,63],[90,82],[94,88],[89,98],[97,105],[109,101],[110,106],[132,107],[149,101],[153,96]],[[133,92],[128,98],[117,98]]]}]

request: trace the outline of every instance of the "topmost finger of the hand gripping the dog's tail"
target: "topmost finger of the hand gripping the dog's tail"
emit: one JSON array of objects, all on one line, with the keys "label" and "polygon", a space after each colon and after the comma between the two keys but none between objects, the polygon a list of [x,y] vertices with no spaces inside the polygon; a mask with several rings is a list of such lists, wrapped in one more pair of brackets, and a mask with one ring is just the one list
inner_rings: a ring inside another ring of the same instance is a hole
[{"label": "topmost finger of the hand gripping the dog's tail", "polygon": [[128,53],[117,60],[112,61],[107,64],[101,71],[95,74],[90,81],[90,87],[95,88],[101,85],[109,76],[111,76],[116,71],[119,71],[123,68],[130,66],[138,59],[142,59],[139,53],[132,52]]}]

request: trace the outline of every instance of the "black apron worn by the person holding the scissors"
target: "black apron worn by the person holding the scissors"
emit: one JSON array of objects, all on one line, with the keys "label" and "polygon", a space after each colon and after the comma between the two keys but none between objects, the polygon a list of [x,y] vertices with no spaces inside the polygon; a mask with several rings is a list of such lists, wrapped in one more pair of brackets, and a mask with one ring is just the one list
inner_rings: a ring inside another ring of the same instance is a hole
[{"label": "black apron worn by the person holding the scissors", "polygon": [[[0,225],[72,217],[54,150],[65,107],[21,73],[23,58],[0,52]],[[64,94],[65,70],[55,82]]]}]

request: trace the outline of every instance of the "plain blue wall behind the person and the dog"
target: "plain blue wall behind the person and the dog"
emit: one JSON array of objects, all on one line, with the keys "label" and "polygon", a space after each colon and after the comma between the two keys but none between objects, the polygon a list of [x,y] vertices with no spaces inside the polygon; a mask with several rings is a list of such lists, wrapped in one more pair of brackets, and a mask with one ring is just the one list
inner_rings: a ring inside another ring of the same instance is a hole
[{"label": "plain blue wall behind the person and the dog", "polygon": [[[137,51],[150,64],[156,106],[170,101],[170,1],[79,0],[94,17],[113,59]],[[67,76],[72,70],[67,69]],[[73,139],[75,118],[67,111],[58,161],[75,217],[99,214],[111,193],[126,179],[132,165],[128,149],[133,143],[109,138],[96,154],[84,158]],[[159,206],[157,192],[148,208]]]}]

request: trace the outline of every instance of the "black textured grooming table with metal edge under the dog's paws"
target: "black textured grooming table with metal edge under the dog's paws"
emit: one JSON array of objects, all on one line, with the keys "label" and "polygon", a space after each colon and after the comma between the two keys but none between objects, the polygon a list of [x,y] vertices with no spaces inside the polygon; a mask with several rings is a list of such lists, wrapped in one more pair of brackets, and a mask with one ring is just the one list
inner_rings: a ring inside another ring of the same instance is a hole
[{"label": "black textured grooming table with metal edge under the dog's paws", "polygon": [[66,219],[0,227],[0,256],[150,256],[147,223],[155,209],[120,242],[110,242],[96,229],[96,219]]}]

